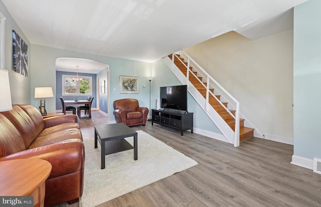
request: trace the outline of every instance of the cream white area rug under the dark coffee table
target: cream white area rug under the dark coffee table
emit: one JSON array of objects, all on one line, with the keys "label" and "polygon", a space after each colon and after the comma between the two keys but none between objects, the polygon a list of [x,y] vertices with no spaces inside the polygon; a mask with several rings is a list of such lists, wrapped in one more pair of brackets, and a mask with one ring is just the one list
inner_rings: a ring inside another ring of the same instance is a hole
[{"label": "cream white area rug under the dark coffee table", "polygon": [[[99,205],[198,164],[149,134],[141,130],[137,133],[138,159],[133,159],[133,149],[105,155],[105,169],[100,169],[99,142],[95,149],[93,138],[84,140],[86,159],[80,206]],[[133,145],[133,137],[126,140]]]}]

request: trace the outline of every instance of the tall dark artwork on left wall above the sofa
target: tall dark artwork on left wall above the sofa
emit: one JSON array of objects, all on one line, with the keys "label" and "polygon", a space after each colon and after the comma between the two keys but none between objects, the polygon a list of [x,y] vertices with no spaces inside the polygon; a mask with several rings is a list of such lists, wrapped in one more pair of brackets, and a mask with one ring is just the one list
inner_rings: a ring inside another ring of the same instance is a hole
[{"label": "tall dark artwork on left wall above the sofa", "polygon": [[21,75],[28,76],[28,45],[13,30],[14,70]]}]

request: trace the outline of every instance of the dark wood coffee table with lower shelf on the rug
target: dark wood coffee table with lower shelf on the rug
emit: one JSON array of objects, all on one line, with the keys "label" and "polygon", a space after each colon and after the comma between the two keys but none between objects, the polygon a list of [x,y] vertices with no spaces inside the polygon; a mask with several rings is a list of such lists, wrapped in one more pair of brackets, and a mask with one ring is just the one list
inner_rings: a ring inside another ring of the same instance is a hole
[{"label": "dark wood coffee table with lower shelf on the rug", "polygon": [[[124,138],[134,137],[134,146]],[[101,169],[105,168],[105,155],[134,149],[134,160],[137,160],[137,132],[123,123],[95,126],[95,148],[97,140],[101,146]]]}]

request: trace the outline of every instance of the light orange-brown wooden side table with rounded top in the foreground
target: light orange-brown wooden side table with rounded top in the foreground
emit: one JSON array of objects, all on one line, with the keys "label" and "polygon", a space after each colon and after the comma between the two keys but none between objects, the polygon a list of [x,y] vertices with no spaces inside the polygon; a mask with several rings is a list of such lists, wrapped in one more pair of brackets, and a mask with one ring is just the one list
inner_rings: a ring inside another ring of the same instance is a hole
[{"label": "light orange-brown wooden side table with rounded top in the foreground", "polygon": [[0,162],[0,195],[33,196],[34,206],[44,206],[45,181],[51,164],[43,159],[13,159]]}]

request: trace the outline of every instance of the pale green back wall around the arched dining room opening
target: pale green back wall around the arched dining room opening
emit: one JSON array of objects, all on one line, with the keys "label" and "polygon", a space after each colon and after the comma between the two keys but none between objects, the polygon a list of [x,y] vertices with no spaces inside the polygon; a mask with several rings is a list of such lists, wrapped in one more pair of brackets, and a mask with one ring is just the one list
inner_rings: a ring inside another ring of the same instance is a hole
[{"label": "pale green back wall around the arched dining room opening", "polygon": [[[32,45],[32,83],[31,83],[31,104],[39,105],[39,100],[34,99],[35,87],[52,87],[55,91],[55,63],[57,58],[84,58],[94,60],[100,63],[109,65],[109,86],[110,86],[110,110],[113,109],[113,101],[122,98],[135,98],[142,106],[149,105],[149,89],[142,88],[141,85],[147,85],[147,76],[150,74],[150,63],[132,61],[120,58],[112,58],[106,56],[93,55],[88,53],[81,53],[70,50],[62,50],[39,45]],[[138,76],[139,77],[139,94],[120,94],[119,93],[119,76]],[[113,91],[113,89],[116,91]],[[54,112],[55,98],[46,99],[47,112]],[[114,116],[109,117],[110,120],[115,120]]]}]

